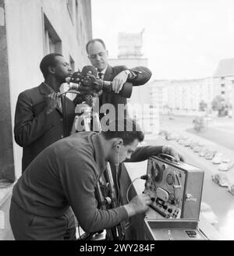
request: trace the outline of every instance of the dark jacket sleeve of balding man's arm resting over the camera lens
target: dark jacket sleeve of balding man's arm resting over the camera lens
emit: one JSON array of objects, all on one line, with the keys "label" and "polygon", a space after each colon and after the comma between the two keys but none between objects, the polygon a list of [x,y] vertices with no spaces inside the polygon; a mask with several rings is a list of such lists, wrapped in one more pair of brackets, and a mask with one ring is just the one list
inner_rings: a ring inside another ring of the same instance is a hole
[{"label": "dark jacket sleeve of balding man's arm resting over the camera lens", "polygon": [[129,70],[137,74],[137,76],[134,76],[133,79],[128,80],[128,82],[133,83],[133,86],[146,84],[147,81],[151,79],[151,76],[152,76],[151,70],[147,69],[144,66],[137,66]]}]

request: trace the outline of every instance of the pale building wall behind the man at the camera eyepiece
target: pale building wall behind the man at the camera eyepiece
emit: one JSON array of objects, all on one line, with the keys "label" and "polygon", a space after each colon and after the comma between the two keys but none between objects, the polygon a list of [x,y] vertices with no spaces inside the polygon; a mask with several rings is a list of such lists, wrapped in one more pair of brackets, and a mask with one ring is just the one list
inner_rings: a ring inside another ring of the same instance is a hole
[{"label": "pale building wall behind the man at the camera eyepiece", "polygon": [[[85,43],[92,37],[90,0],[68,2],[69,7],[66,0],[5,0],[12,119],[9,130],[13,129],[20,92],[36,87],[44,80],[39,69],[41,59],[47,54],[44,49],[44,16],[61,40],[62,55],[68,60],[73,59],[74,69],[82,69],[89,63]],[[22,148],[14,140],[12,144],[17,178],[21,174]]]}]

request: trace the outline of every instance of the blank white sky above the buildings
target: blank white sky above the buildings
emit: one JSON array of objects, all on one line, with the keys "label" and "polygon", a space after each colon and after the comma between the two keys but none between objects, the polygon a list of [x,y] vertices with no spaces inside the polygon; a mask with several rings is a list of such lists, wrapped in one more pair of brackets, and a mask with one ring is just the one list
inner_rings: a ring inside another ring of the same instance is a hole
[{"label": "blank white sky above the buildings", "polygon": [[118,55],[119,32],[144,29],[144,58],[152,79],[212,76],[234,58],[233,0],[91,0],[93,37]]}]

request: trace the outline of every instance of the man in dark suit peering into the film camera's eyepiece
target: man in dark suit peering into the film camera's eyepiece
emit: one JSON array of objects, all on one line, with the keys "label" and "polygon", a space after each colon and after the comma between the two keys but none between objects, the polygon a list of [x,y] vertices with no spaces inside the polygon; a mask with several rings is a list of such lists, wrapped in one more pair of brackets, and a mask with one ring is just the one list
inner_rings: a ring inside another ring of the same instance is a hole
[{"label": "man in dark suit peering into the film camera's eyepiece", "polygon": [[74,102],[58,97],[59,87],[72,75],[69,63],[52,53],[44,56],[40,69],[44,82],[20,93],[16,103],[14,133],[23,147],[22,172],[44,148],[69,135],[75,116]]}]

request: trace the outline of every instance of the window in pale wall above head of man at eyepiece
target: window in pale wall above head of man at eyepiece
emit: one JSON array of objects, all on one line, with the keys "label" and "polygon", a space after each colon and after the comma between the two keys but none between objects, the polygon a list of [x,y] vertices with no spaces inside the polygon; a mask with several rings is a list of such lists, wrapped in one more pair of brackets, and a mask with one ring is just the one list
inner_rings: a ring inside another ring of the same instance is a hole
[{"label": "window in pale wall above head of man at eyepiece", "polygon": [[47,16],[44,15],[44,54],[53,52],[62,54],[62,41]]}]

